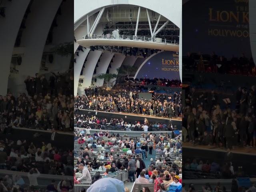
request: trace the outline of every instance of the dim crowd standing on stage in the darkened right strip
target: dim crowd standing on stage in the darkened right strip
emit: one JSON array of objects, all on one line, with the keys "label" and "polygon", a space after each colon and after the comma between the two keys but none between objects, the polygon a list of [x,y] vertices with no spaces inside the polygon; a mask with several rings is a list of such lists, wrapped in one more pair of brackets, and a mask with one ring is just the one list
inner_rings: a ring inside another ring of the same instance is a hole
[{"label": "dim crowd standing on stage in the darkened right strip", "polygon": [[221,108],[214,90],[192,88],[182,114],[184,141],[226,148],[256,147],[255,93],[255,86],[239,87],[236,100]]}]

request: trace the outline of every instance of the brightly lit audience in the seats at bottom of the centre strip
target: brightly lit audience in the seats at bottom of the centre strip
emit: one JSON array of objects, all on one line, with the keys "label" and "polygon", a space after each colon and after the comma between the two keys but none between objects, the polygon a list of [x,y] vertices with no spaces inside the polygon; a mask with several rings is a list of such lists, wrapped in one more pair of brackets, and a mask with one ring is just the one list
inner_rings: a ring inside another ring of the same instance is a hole
[{"label": "brightly lit audience in the seats at bottom of the centre strip", "polygon": [[[136,137],[110,134],[108,131],[91,134],[88,129],[77,129],[74,132],[75,148],[77,148],[74,156],[77,161],[75,184],[79,185],[83,181],[91,182],[92,185],[87,191],[93,191],[99,188],[98,185],[105,186],[105,182],[108,181],[103,179],[108,179],[110,180],[108,186],[113,187],[111,178],[105,176],[116,176],[116,172],[128,172],[130,182],[152,183],[154,192],[164,192],[170,185],[180,186],[181,190],[181,138],[182,134],[170,136],[148,132]],[[146,167],[144,160],[148,158],[150,164]],[[97,182],[98,180],[102,182]],[[117,186],[119,184],[120,191],[129,191],[128,188],[124,189],[123,182],[119,181]],[[148,187],[143,187],[142,190],[150,192]]]}]

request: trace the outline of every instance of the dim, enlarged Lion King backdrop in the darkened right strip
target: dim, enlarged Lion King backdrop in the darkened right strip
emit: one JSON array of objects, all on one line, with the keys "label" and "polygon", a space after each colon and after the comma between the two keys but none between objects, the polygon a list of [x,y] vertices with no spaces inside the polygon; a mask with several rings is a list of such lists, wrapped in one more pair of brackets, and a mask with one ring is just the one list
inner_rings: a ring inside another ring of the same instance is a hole
[{"label": "dim, enlarged Lion King backdrop in the darkened right strip", "polygon": [[251,57],[248,0],[189,0],[182,6],[182,52]]}]

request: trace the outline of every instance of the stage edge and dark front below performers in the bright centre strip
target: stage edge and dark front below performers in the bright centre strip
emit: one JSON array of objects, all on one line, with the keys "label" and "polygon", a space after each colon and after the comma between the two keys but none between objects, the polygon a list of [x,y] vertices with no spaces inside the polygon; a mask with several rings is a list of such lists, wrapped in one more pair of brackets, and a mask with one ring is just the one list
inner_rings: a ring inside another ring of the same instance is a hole
[{"label": "stage edge and dark front below performers in the bright centre strip", "polygon": [[[78,114],[83,114],[83,115],[88,115],[89,117],[91,116],[96,116],[98,118],[106,118],[110,120],[111,118],[122,118],[124,122],[140,122],[142,124],[144,122],[144,118],[148,119],[149,123],[153,122],[160,122],[160,123],[165,123],[168,125],[170,123],[170,118],[162,118],[162,117],[157,117],[157,116],[149,116],[149,115],[141,115],[141,114],[130,114],[130,113],[113,113],[113,112],[103,112],[103,111],[98,111],[96,115],[96,111],[92,110],[78,110],[76,113]],[[126,116],[126,118],[125,118]],[[182,129],[182,120],[181,118],[172,118],[172,126],[176,126],[179,130]]]}]

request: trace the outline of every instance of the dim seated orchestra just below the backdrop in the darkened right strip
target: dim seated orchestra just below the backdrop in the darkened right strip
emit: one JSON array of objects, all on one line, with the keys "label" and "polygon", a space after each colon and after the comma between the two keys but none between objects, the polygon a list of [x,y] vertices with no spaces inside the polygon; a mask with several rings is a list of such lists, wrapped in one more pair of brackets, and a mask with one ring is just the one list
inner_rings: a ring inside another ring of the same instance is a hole
[{"label": "dim seated orchestra just below the backdrop in the darkened right strip", "polygon": [[253,58],[247,58],[244,53],[239,58],[233,56],[228,60],[225,56],[218,56],[215,52],[210,55],[188,52],[182,61],[185,70],[256,76]]}]

